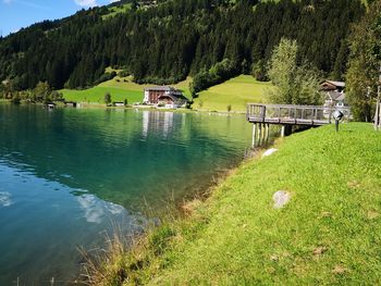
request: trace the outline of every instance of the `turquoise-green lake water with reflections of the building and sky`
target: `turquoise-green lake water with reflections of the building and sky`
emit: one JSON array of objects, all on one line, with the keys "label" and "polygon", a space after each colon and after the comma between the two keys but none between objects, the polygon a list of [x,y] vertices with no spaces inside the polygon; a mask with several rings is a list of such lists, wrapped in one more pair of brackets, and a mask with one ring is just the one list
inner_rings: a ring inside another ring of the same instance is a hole
[{"label": "turquoise-green lake water with reflections of the building and sky", "polygon": [[250,135],[243,115],[0,104],[0,285],[70,284],[77,247],[205,190]]}]

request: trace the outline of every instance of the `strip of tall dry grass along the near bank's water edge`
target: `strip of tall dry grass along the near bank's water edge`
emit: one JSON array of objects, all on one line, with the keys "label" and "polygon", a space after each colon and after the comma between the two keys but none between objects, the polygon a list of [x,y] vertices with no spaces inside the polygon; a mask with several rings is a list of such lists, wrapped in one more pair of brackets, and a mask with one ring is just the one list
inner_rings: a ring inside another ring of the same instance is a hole
[{"label": "strip of tall dry grass along the near bank's water edge", "polygon": [[[113,238],[108,241],[109,248],[107,251],[97,254],[99,256],[97,259],[100,260],[98,261],[98,265],[95,265],[95,262],[87,257],[86,252],[83,253],[84,257],[87,258],[86,263],[93,265],[93,273],[90,273],[93,283],[90,283],[90,285],[109,285],[109,278],[113,283],[119,281],[120,277],[118,277],[118,275],[120,273],[124,273],[124,270],[119,268],[122,261],[128,261],[128,263],[132,263],[132,265],[140,263],[136,256],[144,256],[142,251],[146,251],[146,245],[150,244],[152,238],[156,239],[156,236],[160,237],[161,235],[165,236],[165,234],[162,234],[162,232],[165,232],[168,227],[172,227],[173,225],[184,225],[192,222],[194,219],[197,220],[199,210],[208,208],[208,204],[229,181],[234,179],[242,169],[260,162],[262,154],[268,149],[282,146],[283,140],[284,138],[278,137],[271,144],[265,147],[256,147],[255,149],[251,148],[251,153],[249,157],[244,157],[243,160],[235,166],[226,169],[218,177],[216,177],[216,181],[211,182],[210,186],[202,190],[195,191],[189,196],[185,196],[182,199],[182,202],[180,202],[180,200],[171,201],[171,203],[163,208],[163,210],[156,211],[153,214],[150,213],[151,217],[148,219],[155,220],[156,223],[147,225],[147,228],[142,234],[130,237],[131,240],[128,240],[127,244],[123,234],[112,234],[111,237]],[[157,222],[159,222],[159,224]],[[161,237],[159,239],[161,239]],[[163,239],[167,239],[167,237],[163,237]],[[111,266],[111,273],[109,266]],[[115,266],[118,269],[113,269]],[[112,285],[122,285],[122,281],[119,283]]]}]

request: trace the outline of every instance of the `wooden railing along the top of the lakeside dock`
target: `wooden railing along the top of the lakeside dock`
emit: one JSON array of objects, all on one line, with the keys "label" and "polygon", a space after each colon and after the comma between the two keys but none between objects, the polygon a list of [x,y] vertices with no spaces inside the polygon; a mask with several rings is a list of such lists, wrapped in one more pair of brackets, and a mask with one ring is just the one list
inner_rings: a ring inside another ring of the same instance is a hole
[{"label": "wooden railing along the top of the lakeside dock", "polygon": [[348,108],[249,103],[247,104],[247,120],[251,123],[324,125],[334,121],[335,110],[343,112],[346,120],[349,119]]}]

